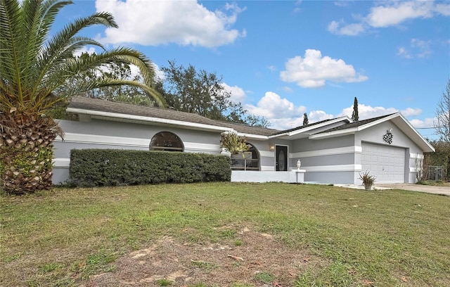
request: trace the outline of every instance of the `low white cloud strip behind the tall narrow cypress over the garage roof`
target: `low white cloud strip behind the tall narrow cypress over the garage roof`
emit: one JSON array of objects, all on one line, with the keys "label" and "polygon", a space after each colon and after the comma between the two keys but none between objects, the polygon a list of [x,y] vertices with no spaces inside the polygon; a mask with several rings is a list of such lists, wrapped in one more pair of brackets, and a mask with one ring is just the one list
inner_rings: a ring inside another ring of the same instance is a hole
[{"label": "low white cloud strip behind the tall narrow cypress over the garage roof", "polygon": [[[380,117],[381,115],[389,115],[392,113],[400,112],[404,117],[411,117],[420,115],[422,110],[420,108],[406,108],[404,110],[397,110],[397,108],[385,108],[385,107],[372,107],[366,106],[364,104],[358,104],[358,115],[359,120],[370,119],[371,117]],[[342,112],[338,115],[347,115],[347,117],[352,117],[353,105],[348,108],[344,108]]]}]

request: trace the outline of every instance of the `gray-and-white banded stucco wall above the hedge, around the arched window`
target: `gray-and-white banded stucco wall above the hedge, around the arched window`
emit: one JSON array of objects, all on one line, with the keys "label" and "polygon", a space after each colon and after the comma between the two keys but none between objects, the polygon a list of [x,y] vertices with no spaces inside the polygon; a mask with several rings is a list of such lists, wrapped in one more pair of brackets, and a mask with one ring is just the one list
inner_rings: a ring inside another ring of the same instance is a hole
[{"label": "gray-and-white banded stucco wall above the hedge, around the arched window", "polygon": [[193,129],[139,125],[127,122],[91,120],[76,122],[60,120],[64,140],[56,139],[54,148],[53,183],[60,184],[69,177],[70,151],[78,148],[117,148],[148,151],[152,137],[158,132],[173,132],[183,141],[188,153],[219,154],[220,133]]}]

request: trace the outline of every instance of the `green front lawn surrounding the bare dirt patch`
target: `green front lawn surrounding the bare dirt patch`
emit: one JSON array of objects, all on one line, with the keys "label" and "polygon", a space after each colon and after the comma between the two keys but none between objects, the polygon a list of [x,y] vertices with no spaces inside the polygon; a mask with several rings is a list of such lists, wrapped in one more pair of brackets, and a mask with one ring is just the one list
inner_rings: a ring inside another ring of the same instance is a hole
[{"label": "green front lawn surrounding the bare dirt patch", "polygon": [[327,262],[295,274],[295,286],[450,286],[450,197],[427,193],[279,183],[58,188],[0,196],[0,224],[0,286],[78,286],[162,236],[220,242],[224,226],[252,226]]}]

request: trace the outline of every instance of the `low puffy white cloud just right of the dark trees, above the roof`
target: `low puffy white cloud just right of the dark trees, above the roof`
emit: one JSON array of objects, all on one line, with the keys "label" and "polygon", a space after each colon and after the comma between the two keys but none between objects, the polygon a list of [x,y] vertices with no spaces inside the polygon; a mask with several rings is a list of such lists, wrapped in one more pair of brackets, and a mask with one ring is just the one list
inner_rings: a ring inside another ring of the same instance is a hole
[{"label": "low puffy white cloud just right of the dark trees, above the roof", "polygon": [[290,129],[303,124],[304,106],[295,106],[286,98],[267,91],[259,100],[257,106],[245,105],[245,109],[253,115],[261,115],[267,118],[274,129]]}]

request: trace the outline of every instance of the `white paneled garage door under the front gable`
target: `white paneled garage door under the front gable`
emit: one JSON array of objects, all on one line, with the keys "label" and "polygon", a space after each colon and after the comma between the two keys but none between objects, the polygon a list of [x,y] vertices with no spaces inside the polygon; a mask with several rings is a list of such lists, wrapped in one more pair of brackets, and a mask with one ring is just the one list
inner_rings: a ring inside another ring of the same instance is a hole
[{"label": "white paneled garage door under the front gable", "polygon": [[375,175],[376,183],[405,182],[405,149],[379,144],[362,144],[361,165],[363,172]]}]

